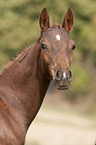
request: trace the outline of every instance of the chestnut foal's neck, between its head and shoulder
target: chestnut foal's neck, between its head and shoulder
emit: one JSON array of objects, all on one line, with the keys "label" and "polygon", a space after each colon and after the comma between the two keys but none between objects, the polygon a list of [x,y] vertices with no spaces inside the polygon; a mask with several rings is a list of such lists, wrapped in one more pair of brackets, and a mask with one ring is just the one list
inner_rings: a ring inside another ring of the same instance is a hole
[{"label": "chestnut foal's neck, between its head and shoulder", "polygon": [[0,88],[1,94],[4,92],[3,100],[17,112],[16,118],[19,117],[20,120],[21,116],[28,127],[37,114],[50,83],[42,72],[38,41],[30,48],[27,56],[18,62],[17,59],[2,75]]}]

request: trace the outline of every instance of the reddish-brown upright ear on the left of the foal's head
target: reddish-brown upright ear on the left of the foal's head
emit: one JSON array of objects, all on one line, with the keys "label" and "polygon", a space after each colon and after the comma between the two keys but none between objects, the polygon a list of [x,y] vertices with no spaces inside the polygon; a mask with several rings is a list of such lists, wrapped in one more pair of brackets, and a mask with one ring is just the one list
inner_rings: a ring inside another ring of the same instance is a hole
[{"label": "reddish-brown upright ear on the left of the foal's head", "polygon": [[42,9],[40,13],[39,24],[41,31],[44,31],[45,29],[49,28],[49,15],[46,8]]}]

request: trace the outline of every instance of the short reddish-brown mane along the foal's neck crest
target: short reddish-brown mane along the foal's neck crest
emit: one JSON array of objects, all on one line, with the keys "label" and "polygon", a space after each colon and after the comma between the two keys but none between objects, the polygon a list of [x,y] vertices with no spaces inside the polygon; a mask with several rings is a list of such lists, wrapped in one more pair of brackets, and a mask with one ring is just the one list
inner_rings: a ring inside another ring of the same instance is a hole
[{"label": "short reddish-brown mane along the foal's neck crest", "polygon": [[5,70],[7,70],[11,65],[14,64],[14,62],[17,61],[17,63],[20,63],[29,53],[31,46],[29,46],[28,48],[26,48],[21,54],[19,54],[13,61],[10,61],[5,67],[4,69],[0,72],[0,76],[4,73]]}]

